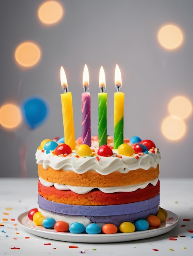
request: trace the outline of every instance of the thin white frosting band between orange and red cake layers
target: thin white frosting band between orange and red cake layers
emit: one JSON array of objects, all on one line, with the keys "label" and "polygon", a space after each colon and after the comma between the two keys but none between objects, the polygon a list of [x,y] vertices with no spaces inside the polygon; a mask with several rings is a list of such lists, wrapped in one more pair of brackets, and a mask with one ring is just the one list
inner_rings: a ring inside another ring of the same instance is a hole
[{"label": "thin white frosting band between orange and red cake layers", "polygon": [[[85,187],[85,186],[69,186],[69,185],[62,185],[54,182],[48,182],[46,180],[43,180],[39,177],[39,180],[42,185],[44,186],[54,186],[58,190],[71,190],[77,194],[85,194],[91,191],[92,189],[96,189],[96,187]],[[129,185],[129,186],[112,186],[112,187],[98,187],[100,191],[104,193],[115,193],[115,192],[132,192],[136,191],[137,189],[144,189],[146,186],[148,186],[150,183],[155,186],[158,182],[158,178],[155,178],[151,181],[144,182],[141,184],[136,185]]]}]

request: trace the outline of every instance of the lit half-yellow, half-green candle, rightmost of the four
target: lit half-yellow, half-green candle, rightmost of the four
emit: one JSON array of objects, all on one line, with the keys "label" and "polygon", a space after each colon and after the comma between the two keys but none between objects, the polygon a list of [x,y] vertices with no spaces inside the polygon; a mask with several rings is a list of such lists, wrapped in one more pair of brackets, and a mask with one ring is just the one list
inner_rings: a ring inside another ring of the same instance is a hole
[{"label": "lit half-yellow, half-green candle, rightmost of the four", "polygon": [[124,93],[120,92],[122,87],[121,72],[116,65],[115,68],[115,92],[114,97],[114,148],[117,149],[123,143],[123,119],[124,119]]}]

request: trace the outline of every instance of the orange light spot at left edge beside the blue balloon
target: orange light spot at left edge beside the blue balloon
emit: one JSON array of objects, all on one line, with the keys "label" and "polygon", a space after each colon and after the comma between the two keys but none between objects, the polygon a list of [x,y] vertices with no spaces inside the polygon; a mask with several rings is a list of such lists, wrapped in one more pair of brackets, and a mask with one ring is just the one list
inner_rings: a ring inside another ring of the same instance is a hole
[{"label": "orange light spot at left edge beside the blue balloon", "polygon": [[3,128],[14,129],[22,122],[20,108],[14,104],[4,104],[0,108],[0,124]]}]

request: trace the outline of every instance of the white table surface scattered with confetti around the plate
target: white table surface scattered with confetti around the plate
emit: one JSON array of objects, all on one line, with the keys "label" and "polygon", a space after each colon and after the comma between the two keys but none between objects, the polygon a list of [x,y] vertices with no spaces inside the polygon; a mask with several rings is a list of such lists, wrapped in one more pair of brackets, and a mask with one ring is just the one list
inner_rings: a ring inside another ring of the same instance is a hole
[{"label": "white table surface scattered with confetti around the plate", "polygon": [[[180,217],[173,230],[153,238],[109,244],[62,242],[24,231],[17,218],[38,207],[37,183],[34,178],[0,178],[0,255],[193,255],[193,179],[160,180],[160,206]],[[176,240],[170,240],[172,236],[177,236]],[[19,249],[11,249],[14,247]]]}]

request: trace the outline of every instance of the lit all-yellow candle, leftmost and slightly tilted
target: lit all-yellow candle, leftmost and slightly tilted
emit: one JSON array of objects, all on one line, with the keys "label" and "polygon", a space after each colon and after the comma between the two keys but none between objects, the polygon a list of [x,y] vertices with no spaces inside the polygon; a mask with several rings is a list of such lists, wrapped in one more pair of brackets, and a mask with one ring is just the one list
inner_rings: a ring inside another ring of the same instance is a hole
[{"label": "lit all-yellow candle, leftmost and slightly tilted", "polygon": [[64,126],[64,143],[75,149],[75,132],[73,120],[72,94],[68,92],[67,77],[64,68],[60,67],[60,81],[64,93],[61,94],[62,117]]}]

